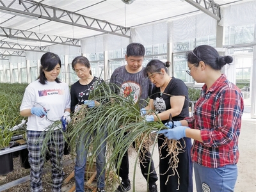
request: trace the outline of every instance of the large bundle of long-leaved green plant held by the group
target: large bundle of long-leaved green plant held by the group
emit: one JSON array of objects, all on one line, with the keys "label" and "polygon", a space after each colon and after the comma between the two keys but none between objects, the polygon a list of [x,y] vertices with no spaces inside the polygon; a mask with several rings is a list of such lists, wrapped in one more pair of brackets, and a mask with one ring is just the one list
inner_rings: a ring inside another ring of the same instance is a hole
[{"label": "large bundle of long-leaved green plant held by the group", "polygon": [[[78,137],[84,137],[88,143],[88,137],[86,135],[94,135],[90,145],[84,146],[84,150],[88,150],[92,154],[91,158],[88,159],[89,164],[93,164],[96,158],[96,150],[100,147],[100,139],[104,137],[106,132],[108,136],[107,151],[106,151],[106,168],[108,170],[119,170],[122,157],[125,152],[136,141],[136,150],[138,154],[143,147],[147,147],[149,150],[150,145],[156,145],[157,137],[152,137],[152,131],[159,131],[166,129],[161,120],[156,122],[146,122],[144,117],[140,115],[139,104],[135,104],[131,97],[123,97],[116,93],[120,92],[114,84],[102,83],[99,84],[95,90],[90,93],[90,100],[97,100],[100,106],[88,109],[85,105],[80,109],[79,113],[72,116],[72,124],[70,124],[69,137],[70,145],[73,147],[77,144]],[[154,111],[151,111],[154,113]],[[152,140],[153,138],[153,140]],[[180,148],[177,147],[177,141],[168,141],[170,145],[170,155],[177,157],[177,153]],[[154,147],[153,147],[154,148]],[[117,158],[117,157],[120,158]],[[136,156],[136,162],[141,161],[139,155]],[[179,161],[179,159],[175,159]],[[175,168],[177,164],[173,164]],[[107,172],[106,177],[110,177]],[[136,173],[136,166],[134,166],[134,179]],[[113,185],[113,182],[111,183]],[[133,186],[133,190],[135,187]]]}]

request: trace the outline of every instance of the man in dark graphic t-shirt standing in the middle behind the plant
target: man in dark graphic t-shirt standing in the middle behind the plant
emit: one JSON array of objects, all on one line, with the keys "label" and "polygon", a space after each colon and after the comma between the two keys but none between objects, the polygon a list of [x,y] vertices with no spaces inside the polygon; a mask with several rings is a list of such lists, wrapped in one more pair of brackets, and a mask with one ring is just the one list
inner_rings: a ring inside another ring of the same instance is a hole
[{"label": "man in dark graphic t-shirt standing in the middle behind the plant", "polygon": [[[118,67],[113,72],[110,83],[115,83],[120,87],[120,95],[123,97],[132,97],[134,102],[140,102],[140,108],[145,108],[145,100],[148,98],[148,93],[151,91],[151,83],[148,78],[143,75],[143,59],[145,55],[145,47],[138,43],[132,43],[127,46],[125,60],[127,65]],[[144,150],[141,150],[144,151]],[[140,152],[140,167],[143,177],[148,181],[148,190],[157,192],[157,174],[154,167],[154,162],[151,159],[150,152],[146,152],[143,156]],[[148,167],[150,166],[149,172]],[[131,189],[129,180],[129,157],[128,152],[122,157],[122,163],[119,170],[116,171],[119,177],[122,178],[120,186],[115,192],[125,192]],[[148,177],[148,173],[149,177]]]}]

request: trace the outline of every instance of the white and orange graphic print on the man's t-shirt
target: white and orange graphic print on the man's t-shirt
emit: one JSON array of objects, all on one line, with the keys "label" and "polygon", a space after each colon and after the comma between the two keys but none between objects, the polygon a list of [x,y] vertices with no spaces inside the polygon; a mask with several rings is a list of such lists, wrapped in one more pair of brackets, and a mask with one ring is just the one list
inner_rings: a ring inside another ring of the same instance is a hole
[{"label": "white and orange graphic print on the man's t-shirt", "polygon": [[132,81],[125,82],[121,86],[120,95],[122,97],[130,97],[134,103],[138,101],[138,98],[140,97],[141,93],[141,87],[140,84],[134,83]]}]

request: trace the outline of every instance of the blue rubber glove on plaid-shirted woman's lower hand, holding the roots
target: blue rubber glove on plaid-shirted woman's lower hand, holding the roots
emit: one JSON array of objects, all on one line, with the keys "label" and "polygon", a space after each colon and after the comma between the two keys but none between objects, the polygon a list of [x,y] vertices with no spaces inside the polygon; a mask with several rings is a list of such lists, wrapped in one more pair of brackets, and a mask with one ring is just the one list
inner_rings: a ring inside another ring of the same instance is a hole
[{"label": "blue rubber glove on plaid-shirted woman's lower hand, holding the roots", "polygon": [[159,134],[164,134],[166,138],[169,140],[180,140],[181,138],[186,137],[186,129],[189,129],[189,127],[186,126],[178,126],[173,127],[173,129],[164,129],[159,131]]}]

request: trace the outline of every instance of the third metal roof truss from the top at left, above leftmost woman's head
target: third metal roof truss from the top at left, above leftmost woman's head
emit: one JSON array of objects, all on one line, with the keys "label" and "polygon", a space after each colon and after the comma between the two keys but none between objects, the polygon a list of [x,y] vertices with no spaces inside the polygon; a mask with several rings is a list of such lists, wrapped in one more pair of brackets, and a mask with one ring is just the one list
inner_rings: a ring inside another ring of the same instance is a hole
[{"label": "third metal roof truss from the top at left, above leftmost woman's head", "polygon": [[31,45],[21,45],[11,42],[0,42],[1,49],[8,49],[13,51],[34,51],[34,52],[47,52],[49,46],[31,46]]}]

